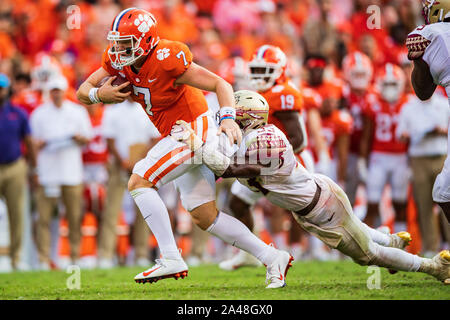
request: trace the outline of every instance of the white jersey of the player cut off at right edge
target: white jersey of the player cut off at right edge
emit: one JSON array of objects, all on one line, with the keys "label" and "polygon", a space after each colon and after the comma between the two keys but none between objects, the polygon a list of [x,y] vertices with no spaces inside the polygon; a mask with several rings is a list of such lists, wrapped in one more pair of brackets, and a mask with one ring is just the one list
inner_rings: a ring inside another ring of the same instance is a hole
[{"label": "white jersey of the player cut off at right edge", "polygon": [[419,26],[409,35],[421,35],[430,41],[423,60],[430,67],[434,82],[445,87],[450,98],[450,23]]}]

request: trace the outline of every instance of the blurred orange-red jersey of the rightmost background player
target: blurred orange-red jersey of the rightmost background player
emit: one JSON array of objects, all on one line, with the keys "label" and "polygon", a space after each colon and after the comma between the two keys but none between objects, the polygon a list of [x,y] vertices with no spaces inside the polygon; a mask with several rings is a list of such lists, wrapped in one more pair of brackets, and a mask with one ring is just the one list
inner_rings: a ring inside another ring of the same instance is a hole
[{"label": "blurred orange-red jersey of the rightmost background player", "polygon": [[373,122],[373,138],[371,151],[405,153],[407,144],[397,140],[398,116],[402,107],[408,102],[409,96],[404,95],[394,105],[377,99],[367,108],[366,115]]}]

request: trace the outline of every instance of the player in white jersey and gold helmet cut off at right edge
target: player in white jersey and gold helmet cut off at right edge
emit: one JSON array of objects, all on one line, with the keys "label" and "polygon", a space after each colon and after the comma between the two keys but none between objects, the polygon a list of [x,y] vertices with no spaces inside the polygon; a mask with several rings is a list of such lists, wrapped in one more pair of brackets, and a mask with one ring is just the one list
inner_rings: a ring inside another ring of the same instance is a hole
[{"label": "player in white jersey and gold helmet cut off at right edge", "polygon": [[[414,61],[411,81],[420,100],[428,100],[437,85],[445,88],[450,104],[450,0],[424,1],[425,25],[417,27],[406,40],[408,59]],[[448,134],[448,130],[447,130]],[[448,136],[450,150],[450,135]],[[437,176],[433,200],[450,222],[450,158]]]}]

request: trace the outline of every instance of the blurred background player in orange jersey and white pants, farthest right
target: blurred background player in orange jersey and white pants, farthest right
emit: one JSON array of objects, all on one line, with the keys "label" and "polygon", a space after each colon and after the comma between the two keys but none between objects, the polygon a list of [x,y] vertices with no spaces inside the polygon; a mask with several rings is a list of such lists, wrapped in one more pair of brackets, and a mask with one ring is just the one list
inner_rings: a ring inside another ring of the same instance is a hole
[{"label": "blurred background player in orange jersey and white pants, farthest right", "polygon": [[404,88],[403,70],[397,65],[387,63],[376,77],[378,98],[368,105],[363,116],[360,148],[362,159],[369,160],[366,183],[368,207],[365,222],[372,227],[375,225],[384,187],[390,183],[392,205],[396,214],[395,231],[405,230],[406,227],[409,184],[407,145],[398,141],[395,136],[398,114],[408,101]]}]

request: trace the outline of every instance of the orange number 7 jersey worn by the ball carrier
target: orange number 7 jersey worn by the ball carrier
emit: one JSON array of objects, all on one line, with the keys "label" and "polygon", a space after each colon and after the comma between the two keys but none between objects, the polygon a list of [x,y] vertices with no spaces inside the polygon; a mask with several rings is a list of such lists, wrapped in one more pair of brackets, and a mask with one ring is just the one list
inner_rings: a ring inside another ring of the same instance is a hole
[{"label": "orange number 7 jersey worn by the ball carrier", "polygon": [[137,74],[130,66],[114,69],[107,51],[103,53],[102,67],[111,75],[130,81],[132,99],[144,108],[163,137],[177,120],[192,122],[208,110],[201,90],[174,84],[192,63],[192,53],[185,44],[159,41]]}]

